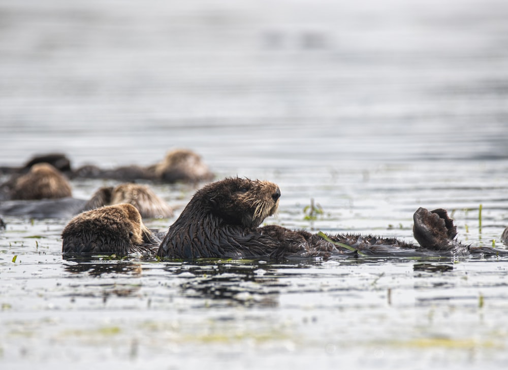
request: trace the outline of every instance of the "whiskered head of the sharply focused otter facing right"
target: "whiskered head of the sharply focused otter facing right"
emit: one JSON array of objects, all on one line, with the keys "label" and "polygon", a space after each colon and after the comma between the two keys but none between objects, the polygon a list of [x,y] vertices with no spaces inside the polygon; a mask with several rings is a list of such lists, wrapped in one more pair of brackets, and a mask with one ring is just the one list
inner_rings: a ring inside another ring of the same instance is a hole
[{"label": "whiskered head of the sharply focused otter facing right", "polygon": [[252,228],[277,211],[280,189],[269,181],[231,178],[211,183],[198,194],[213,215]]}]

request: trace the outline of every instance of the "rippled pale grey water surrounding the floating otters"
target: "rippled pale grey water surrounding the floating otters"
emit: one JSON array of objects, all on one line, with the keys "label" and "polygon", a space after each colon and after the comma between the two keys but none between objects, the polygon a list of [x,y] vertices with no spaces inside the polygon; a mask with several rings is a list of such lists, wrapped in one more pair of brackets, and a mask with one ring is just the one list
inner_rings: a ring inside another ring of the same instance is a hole
[{"label": "rippled pale grey water surrounding the floating otters", "polygon": [[[267,223],[412,242],[412,213],[442,207],[502,248],[507,18],[501,0],[3,0],[0,164],[186,147],[218,178],[277,182]],[[153,188],[177,214],[195,191]],[[3,219],[2,368],[508,362],[507,259],[63,260],[68,220]]]}]

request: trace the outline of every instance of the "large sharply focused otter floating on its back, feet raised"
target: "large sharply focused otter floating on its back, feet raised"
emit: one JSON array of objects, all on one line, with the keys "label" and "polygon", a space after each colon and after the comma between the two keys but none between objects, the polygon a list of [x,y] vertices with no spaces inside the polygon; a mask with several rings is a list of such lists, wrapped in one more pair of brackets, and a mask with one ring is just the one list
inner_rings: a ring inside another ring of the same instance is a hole
[{"label": "large sharply focused otter floating on its back, feet raised", "polygon": [[313,234],[281,226],[259,227],[278,207],[280,189],[272,182],[227,178],[204,186],[169,227],[159,257],[309,257],[348,253],[386,256],[465,256],[504,250],[469,248],[454,240],[457,232],[445,210],[418,209],[414,236],[419,246],[394,238]]}]

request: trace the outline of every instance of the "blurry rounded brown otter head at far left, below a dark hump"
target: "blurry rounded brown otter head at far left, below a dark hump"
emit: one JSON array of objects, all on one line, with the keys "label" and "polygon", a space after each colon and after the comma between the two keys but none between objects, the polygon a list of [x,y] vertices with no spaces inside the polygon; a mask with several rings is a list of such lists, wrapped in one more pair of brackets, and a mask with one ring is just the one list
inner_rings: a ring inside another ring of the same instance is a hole
[{"label": "blurry rounded brown otter head at far left, below a dark hump", "polygon": [[72,195],[71,184],[49,163],[31,166],[27,174],[6,183],[11,199],[58,199]]}]

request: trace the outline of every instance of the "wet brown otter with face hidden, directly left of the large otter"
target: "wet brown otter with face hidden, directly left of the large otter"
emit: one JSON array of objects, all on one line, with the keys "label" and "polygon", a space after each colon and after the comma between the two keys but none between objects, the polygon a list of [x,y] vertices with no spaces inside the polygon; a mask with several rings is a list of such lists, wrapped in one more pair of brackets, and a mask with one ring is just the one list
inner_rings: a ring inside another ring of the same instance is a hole
[{"label": "wet brown otter with face hidden, directly left of the large otter", "polygon": [[63,229],[63,254],[154,253],[160,240],[143,224],[139,211],[119,204],[83,212]]}]

